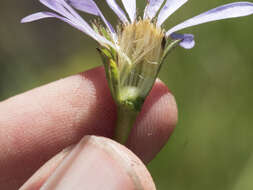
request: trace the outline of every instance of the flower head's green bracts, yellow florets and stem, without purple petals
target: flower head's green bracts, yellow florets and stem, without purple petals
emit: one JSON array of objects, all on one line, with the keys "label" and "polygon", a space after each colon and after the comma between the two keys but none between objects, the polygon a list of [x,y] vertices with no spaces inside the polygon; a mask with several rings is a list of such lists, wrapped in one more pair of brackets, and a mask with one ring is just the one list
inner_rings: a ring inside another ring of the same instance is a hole
[{"label": "flower head's green bracts, yellow florets and stem, without purple petals", "polygon": [[[104,28],[95,30],[110,39]],[[149,94],[163,60],[180,40],[166,44],[165,33],[150,20],[140,20],[119,29],[119,47],[101,46],[108,84],[118,110],[115,139],[125,143]],[[167,45],[167,46],[166,46]]]}]

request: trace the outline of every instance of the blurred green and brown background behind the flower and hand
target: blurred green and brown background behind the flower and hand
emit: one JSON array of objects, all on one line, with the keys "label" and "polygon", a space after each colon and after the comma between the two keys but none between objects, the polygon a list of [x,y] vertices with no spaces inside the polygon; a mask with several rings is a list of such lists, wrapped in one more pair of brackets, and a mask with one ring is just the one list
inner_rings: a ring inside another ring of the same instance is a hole
[{"label": "blurred green and brown background behind the flower and hand", "polygon": [[[97,2],[115,23],[104,1]],[[138,0],[139,13],[144,2]],[[191,0],[166,28],[229,2]],[[37,0],[1,2],[0,100],[101,65],[97,44],[67,24],[19,23],[39,10],[46,8]],[[149,165],[157,189],[253,189],[252,23],[250,16],[187,29],[196,47],[168,56],[160,78],[177,99],[179,123]]]}]

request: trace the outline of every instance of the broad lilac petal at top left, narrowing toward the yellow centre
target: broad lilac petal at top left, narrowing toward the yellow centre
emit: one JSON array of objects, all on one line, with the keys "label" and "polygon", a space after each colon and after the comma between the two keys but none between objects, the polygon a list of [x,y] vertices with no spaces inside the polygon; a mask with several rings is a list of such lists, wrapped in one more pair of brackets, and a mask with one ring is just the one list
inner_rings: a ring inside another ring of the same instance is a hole
[{"label": "broad lilac petal at top left, narrowing toward the yellow centre", "polygon": [[112,25],[106,20],[104,17],[103,13],[100,11],[98,6],[93,0],[66,0],[67,3],[72,5],[74,8],[89,13],[93,14],[96,16],[100,16],[107,28],[110,30],[112,34],[116,34],[115,30],[113,29]]}]

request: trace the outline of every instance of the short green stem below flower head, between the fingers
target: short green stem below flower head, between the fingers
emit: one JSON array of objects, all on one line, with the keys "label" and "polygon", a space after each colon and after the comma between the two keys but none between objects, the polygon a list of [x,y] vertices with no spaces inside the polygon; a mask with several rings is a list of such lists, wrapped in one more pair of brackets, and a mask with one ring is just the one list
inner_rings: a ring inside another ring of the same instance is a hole
[{"label": "short green stem below flower head, between the fingers", "polygon": [[131,129],[135,123],[136,117],[139,112],[125,105],[119,105],[117,108],[117,124],[114,134],[114,140],[121,144],[125,144]]}]

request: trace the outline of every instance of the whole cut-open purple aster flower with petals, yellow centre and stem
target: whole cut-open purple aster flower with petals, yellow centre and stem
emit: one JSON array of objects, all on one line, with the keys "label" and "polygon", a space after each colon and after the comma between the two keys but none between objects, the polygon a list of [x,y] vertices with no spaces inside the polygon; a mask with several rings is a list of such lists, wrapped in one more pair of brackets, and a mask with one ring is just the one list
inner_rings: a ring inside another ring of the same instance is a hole
[{"label": "whole cut-open purple aster flower with petals, yellow centre and stem", "polygon": [[[106,0],[120,23],[113,27],[93,0],[40,0],[54,12],[39,12],[22,19],[22,23],[43,18],[58,18],[82,31],[99,43],[108,84],[118,106],[115,139],[127,140],[142,104],[151,90],[168,53],[177,45],[191,49],[192,34],[176,32],[203,23],[253,14],[253,3],[235,2],[209,10],[169,30],[163,23],[187,0],[148,0],[144,15],[137,18],[136,0]],[[87,23],[73,9],[98,16],[102,24]],[[126,14],[127,13],[127,14]]]}]

